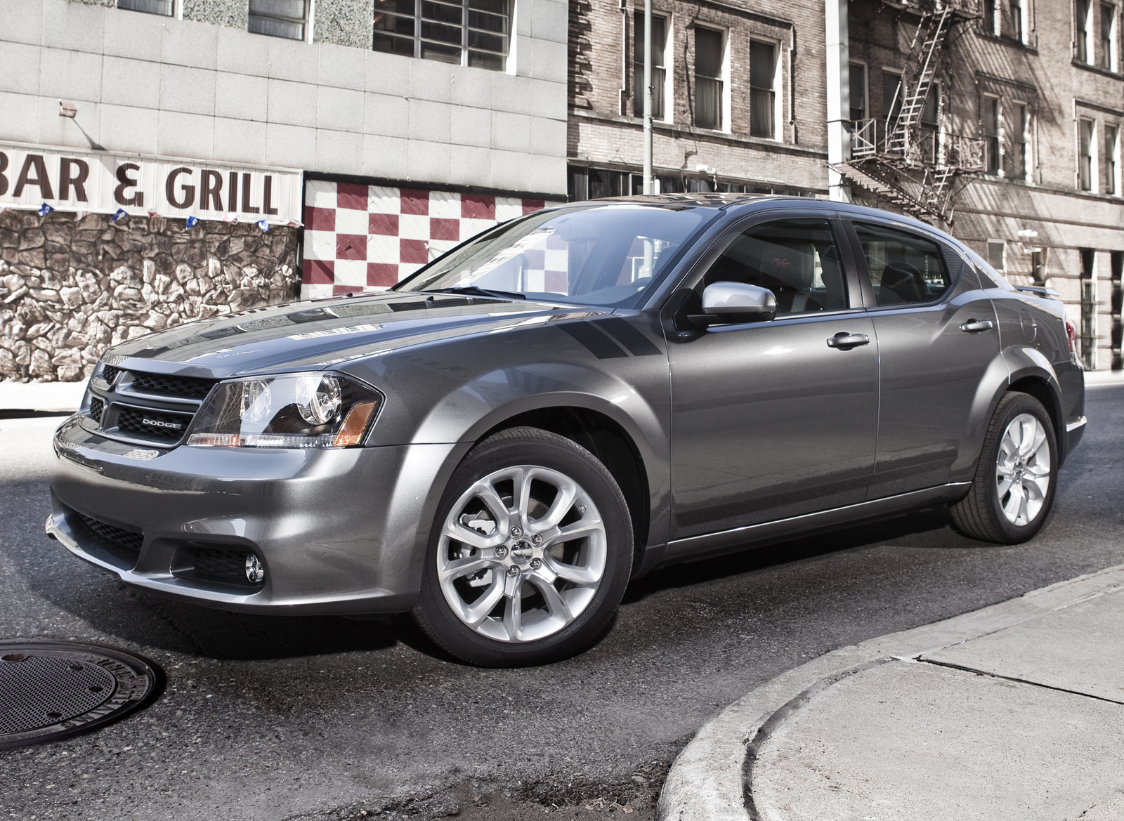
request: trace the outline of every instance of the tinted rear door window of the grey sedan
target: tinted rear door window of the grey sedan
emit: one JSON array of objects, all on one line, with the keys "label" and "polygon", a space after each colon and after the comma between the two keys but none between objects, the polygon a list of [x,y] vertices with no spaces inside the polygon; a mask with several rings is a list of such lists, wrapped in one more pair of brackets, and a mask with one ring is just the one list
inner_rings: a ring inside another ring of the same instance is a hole
[{"label": "tinted rear door window of the grey sedan", "polygon": [[916,234],[855,222],[879,305],[932,302],[950,285],[941,248]]}]

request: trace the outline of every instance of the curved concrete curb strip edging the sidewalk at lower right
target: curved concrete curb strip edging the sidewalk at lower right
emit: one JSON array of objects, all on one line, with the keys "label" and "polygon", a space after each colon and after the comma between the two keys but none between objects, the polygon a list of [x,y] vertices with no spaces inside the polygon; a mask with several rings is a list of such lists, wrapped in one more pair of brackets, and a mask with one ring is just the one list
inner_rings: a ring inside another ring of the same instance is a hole
[{"label": "curved concrete curb strip edging the sidewalk at lower right", "polygon": [[[751,821],[745,806],[747,746],[779,723],[801,696],[869,665],[915,657],[998,632],[1124,586],[1124,565],[1059,582],[1017,599],[944,621],[842,647],[800,665],[742,696],[707,722],[671,766],[660,794],[658,821]],[[783,712],[781,712],[783,711]]]}]

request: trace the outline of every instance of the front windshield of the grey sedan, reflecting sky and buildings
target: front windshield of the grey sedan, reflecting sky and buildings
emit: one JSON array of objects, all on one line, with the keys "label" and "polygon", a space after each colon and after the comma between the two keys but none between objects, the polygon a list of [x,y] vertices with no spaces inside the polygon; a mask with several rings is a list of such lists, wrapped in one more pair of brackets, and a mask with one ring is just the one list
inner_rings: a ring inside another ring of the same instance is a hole
[{"label": "front windshield of the grey sedan, reflecting sky and buildings", "polygon": [[631,305],[710,216],[633,203],[540,211],[455,248],[399,290]]}]

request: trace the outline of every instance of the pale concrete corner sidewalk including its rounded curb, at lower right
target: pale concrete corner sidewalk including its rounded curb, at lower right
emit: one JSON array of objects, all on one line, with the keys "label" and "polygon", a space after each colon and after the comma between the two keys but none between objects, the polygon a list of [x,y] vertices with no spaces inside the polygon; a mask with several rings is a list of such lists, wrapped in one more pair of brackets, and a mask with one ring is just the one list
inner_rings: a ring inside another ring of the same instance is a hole
[{"label": "pale concrete corner sidewalk including its rounded curb, at lower right", "polygon": [[658,818],[1124,818],[1124,566],[843,648],[676,760]]}]

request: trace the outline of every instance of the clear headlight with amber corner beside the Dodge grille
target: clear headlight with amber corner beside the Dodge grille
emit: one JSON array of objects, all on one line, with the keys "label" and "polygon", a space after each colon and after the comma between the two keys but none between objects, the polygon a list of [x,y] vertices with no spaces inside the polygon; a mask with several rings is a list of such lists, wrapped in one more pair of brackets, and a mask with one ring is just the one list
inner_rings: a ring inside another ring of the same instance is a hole
[{"label": "clear headlight with amber corner beside the Dodge grille", "polygon": [[362,444],[381,405],[377,390],[337,374],[224,382],[200,408],[188,445],[351,447]]}]

